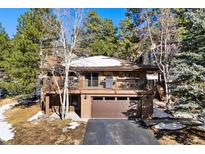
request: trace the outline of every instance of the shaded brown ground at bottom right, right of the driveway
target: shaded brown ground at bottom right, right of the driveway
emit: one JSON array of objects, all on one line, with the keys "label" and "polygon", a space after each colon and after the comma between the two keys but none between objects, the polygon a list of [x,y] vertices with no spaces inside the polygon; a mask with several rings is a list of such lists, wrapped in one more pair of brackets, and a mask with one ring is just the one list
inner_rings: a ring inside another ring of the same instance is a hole
[{"label": "shaded brown ground at bottom right, right of the driveway", "polygon": [[188,130],[154,131],[150,132],[162,145],[205,145],[205,138],[195,135]]}]

